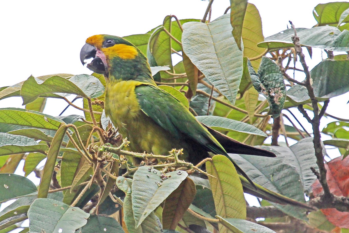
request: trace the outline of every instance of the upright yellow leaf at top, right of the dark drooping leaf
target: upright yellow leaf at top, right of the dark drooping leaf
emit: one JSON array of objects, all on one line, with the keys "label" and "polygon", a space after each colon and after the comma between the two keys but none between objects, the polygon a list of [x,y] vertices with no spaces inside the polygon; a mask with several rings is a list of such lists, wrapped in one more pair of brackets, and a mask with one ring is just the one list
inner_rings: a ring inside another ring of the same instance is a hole
[{"label": "upright yellow leaf at top, right of the dark drooping leaf", "polygon": [[[265,49],[257,46],[258,43],[264,41],[262,20],[258,9],[251,3],[247,4],[242,28],[242,41],[244,43],[244,57],[256,58],[265,52]],[[261,60],[262,58],[251,61],[255,71],[258,71]]]}]

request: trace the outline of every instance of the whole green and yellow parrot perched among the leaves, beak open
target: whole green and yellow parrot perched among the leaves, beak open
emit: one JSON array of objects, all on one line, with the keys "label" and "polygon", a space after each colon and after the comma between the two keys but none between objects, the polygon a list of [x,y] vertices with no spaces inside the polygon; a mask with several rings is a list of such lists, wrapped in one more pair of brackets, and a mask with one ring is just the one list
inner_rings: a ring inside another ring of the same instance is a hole
[{"label": "whole green and yellow parrot perched among the leaves, beak open", "polygon": [[131,141],[130,151],[166,155],[173,148],[183,148],[183,158],[193,164],[210,153],[225,155],[241,174],[244,191],[276,203],[313,209],[253,183],[228,153],[276,155],[200,123],[176,97],[156,85],[146,56],[131,42],[118,36],[91,36],[80,51],[83,65],[89,59],[87,68],[106,79],[105,114]]}]

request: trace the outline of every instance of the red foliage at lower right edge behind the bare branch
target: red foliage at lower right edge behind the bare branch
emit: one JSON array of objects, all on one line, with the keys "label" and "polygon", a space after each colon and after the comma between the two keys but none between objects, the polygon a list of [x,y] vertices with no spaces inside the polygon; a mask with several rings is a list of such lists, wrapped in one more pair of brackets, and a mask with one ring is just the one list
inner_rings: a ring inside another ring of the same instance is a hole
[{"label": "red foliage at lower right edge behind the bare branch", "polygon": [[[349,194],[349,158],[335,158],[325,164],[327,169],[327,183],[332,194],[347,197]],[[322,192],[320,182],[317,180],[312,185],[313,194],[317,197]],[[340,212],[334,208],[321,209],[322,213],[333,225],[349,228],[349,213]]]}]

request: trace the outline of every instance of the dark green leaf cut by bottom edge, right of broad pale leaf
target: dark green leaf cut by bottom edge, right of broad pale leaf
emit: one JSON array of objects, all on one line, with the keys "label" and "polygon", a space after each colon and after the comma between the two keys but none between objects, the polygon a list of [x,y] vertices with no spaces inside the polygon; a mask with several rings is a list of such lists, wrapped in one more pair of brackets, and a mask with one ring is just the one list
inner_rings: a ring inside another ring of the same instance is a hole
[{"label": "dark green leaf cut by bottom edge, right of broad pale leaf", "polygon": [[81,233],[125,233],[120,224],[111,217],[91,215],[87,224],[82,227]]}]

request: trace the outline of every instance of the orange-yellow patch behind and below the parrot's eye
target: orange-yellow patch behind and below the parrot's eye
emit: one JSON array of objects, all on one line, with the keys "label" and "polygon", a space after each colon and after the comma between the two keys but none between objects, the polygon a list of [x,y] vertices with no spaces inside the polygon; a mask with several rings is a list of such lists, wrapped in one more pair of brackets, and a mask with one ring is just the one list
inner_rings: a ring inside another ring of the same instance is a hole
[{"label": "orange-yellow patch behind and below the parrot's eye", "polygon": [[127,44],[116,44],[108,48],[102,48],[107,58],[119,57],[122,59],[134,59],[138,51],[135,47]]}]

